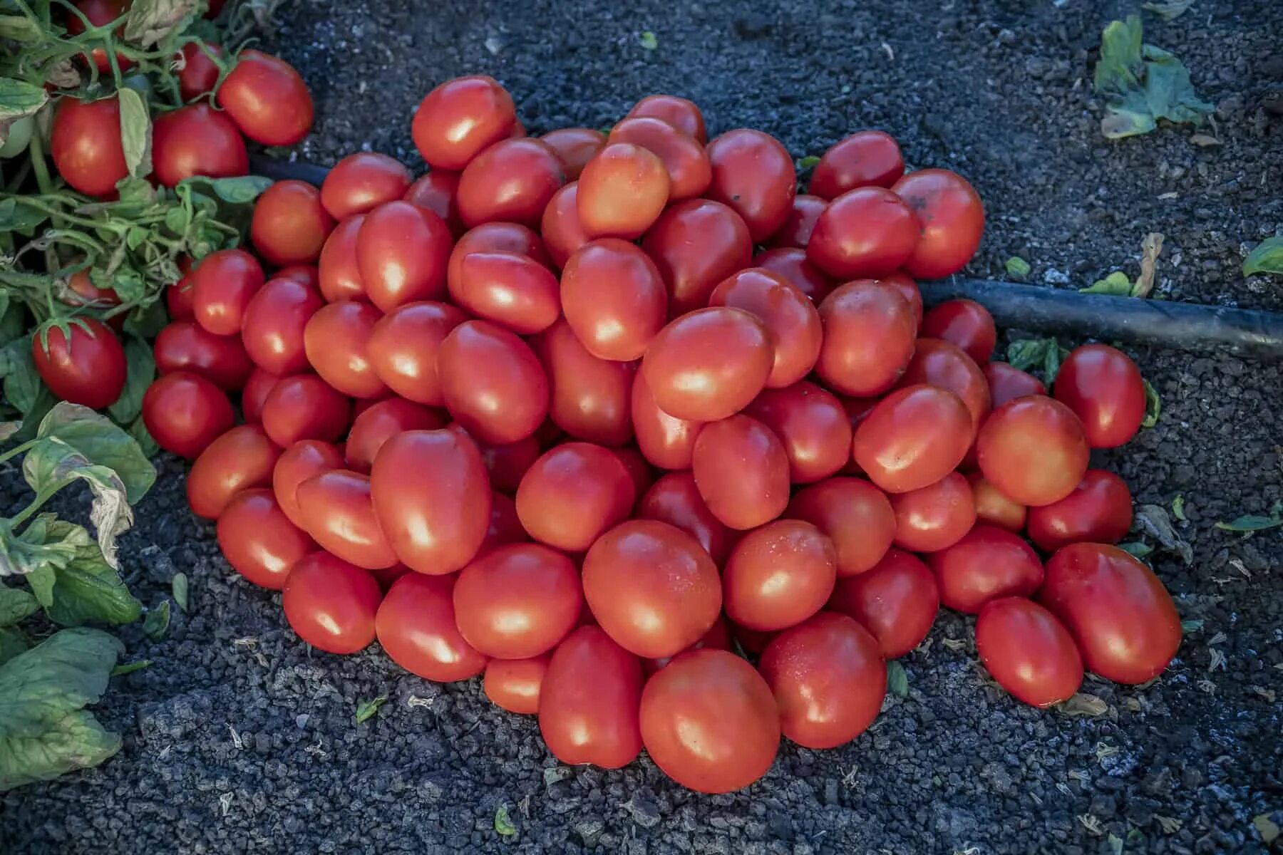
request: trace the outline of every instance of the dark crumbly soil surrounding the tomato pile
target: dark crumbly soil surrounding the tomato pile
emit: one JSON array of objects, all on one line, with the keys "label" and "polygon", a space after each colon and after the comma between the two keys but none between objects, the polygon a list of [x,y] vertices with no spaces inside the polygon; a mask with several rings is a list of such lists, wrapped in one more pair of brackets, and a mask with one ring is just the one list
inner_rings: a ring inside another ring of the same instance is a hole
[{"label": "dark crumbly soil surrounding the tomato pile", "polygon": [[[1161,295],[1283,309],[1277,278],[1239,272],[1246,249],[1283,228],[1277,3],[1146,14],[1147,41],[1218,105],[1205,131],[1221,145],[1209,147],[1188,128],[1100,135],[1092,51],[1132,5],[617,5],[287,6],[268,46],[299,67],[318,109],[299,156],[328,164],[371,147],[420,164],[411,113],[461,73],[500,78],[531,132],[607,126],[667,91],[695,99],[713,132],[763,128],[797,156],[879,127],[913,165],[966,174],[989,214],[975,276],[1003,276],[1011,255],[1048,285],[1135,276],[1141,240],[1160,231]],[[643,31],[656,50],[640,47]],[[1134,355],[1162,418],[1100,463],[1139,504],[1184,497],[1177,531],[1193,561],[1152,560],[1182,617],[1202,624],[1148,686],[1088,678],[1103,714],[1019,704],[978,665],[971,620],[942,613],[903,660],[908,696],[869,733],[833,751],[785,743],[744,792],[694,795],[644,756],[618,772],[559,767],[535,720],[497,711],[479,681],[436,686],[377,649],[309,651],[280,597],[222,561],[213,526],[186,509],[185,467],[164,458],[122,558],[149,605],[186,572],[191,613],[159,643],[123,631],[130,656],[155,663],[98,708],[124,749],[6,793],[0,852],[1264,852],[1253,818],[1283,826],[1283,532],[1212,523],[1283,499],[1283,370]],[[17,504],[19,487],[0,473],[0,495]],[[357,704],[384,693],[355,724]],[[511,837],[495,832],[503,805]]]}]

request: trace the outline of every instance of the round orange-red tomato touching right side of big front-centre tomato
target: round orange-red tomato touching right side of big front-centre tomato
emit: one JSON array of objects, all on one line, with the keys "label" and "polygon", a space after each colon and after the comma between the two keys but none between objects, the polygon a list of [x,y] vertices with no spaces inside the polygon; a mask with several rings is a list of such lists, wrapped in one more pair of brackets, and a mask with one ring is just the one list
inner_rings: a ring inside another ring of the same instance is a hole
[{"label": "round orange-red tomato touching right side of big front-centre tomato", "polygon": [[726,617],[757,631],[797,626],[824,608],[837,574],[838,551],[819,528],[801,519],[766,523],[726,560]]}]

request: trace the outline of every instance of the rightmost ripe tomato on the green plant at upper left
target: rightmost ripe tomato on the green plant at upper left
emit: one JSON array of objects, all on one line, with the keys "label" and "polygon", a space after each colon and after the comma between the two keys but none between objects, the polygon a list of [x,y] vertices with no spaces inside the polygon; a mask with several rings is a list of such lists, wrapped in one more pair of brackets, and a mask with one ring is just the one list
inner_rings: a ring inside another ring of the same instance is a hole
[{"label": "rightmost ripe tomato on the green plant at upper left", "polygon": [[241,133],[263,145],[294,145],[312,129],[312,95],[284,59],[242,50],[218,87],[218,106]]}]

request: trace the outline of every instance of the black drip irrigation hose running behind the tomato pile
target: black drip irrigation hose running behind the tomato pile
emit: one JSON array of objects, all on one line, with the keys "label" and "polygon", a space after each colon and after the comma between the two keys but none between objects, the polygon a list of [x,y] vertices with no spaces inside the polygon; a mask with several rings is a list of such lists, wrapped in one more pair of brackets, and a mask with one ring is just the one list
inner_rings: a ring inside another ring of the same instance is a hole
[{"label": "black drip irrigation hose running behind the tomato pile", "polygon": [[[250,155],[254,174],[273,181],[305,181],[321,186],[325,167]],[[999,327],[1157,345],[1175,350],[1229,351],[1260,360],[1283,359],[1283,314],[1174,300],[1138,300],[1082,294],[992,279],[951,277],[922,282],[928,306],[946,300],[975,300]]]}]

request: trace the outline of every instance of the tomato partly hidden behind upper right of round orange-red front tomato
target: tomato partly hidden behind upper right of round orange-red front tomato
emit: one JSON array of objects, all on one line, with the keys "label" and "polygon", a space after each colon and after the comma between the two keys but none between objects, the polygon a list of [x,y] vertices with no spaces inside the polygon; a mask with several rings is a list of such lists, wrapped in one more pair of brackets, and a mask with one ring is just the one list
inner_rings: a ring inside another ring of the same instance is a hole
[{"label": "tomato partly hidden behind upper right of round orange-red front tomato", "polygon": [[838,578],[876,567],[896,536],[896,514],[887,496],[860,478],[829,478],[799,490],[786,515],[804,519],[833,540]]}]

